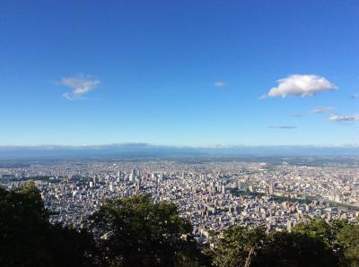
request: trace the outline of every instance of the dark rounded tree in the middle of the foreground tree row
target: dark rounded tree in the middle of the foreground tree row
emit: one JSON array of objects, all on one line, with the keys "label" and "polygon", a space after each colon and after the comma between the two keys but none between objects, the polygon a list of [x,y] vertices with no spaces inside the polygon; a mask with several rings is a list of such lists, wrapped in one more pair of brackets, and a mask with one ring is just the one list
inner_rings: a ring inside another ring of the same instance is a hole
[{"label": "dark rounded tree in the middle of the foreground tree row", "polygon": [[92,219],[110,266],[197,266],[201,257],[173,203],[141,194],[105,200]]}]

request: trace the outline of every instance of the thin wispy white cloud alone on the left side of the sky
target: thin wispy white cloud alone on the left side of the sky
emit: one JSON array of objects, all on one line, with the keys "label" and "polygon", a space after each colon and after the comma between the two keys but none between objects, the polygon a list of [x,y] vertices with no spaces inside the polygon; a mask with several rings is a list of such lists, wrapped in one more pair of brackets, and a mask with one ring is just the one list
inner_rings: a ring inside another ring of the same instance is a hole
[{"label": "thin wispy white cloud alone on the left side of the sky", "polygon": [[83,99],[86,93],[99,86],[100,83],[100,80],[83,73],[74,75],[73,77],[62,78],[60,84],[72,89],[71,92],[66,92],[62,96],[69,100]]}]

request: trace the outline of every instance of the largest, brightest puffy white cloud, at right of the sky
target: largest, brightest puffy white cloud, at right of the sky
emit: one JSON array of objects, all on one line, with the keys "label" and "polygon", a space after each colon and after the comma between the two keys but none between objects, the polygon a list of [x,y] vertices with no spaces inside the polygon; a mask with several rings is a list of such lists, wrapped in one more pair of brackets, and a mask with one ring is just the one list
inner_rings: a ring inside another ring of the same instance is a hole
[{"label": "largest, brightest puffy white cloud, at right of the sky", "polygon": [[334,83],[318,75],[293,74],[284,79],[279,79],[277,82],[278,86],[268,91],[268,97],[311,97],[320,91],[337,89]]}]

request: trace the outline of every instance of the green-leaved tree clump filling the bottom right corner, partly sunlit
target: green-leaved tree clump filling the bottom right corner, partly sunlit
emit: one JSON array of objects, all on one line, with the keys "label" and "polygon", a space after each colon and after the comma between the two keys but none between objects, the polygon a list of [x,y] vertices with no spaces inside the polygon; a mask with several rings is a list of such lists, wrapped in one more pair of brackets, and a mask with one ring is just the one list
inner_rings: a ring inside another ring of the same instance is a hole
[{"label": "green-leaved tree clump filling the bottom right corner, partly sunlit", "polygon": [[215,266],[357,266],[358,226],[310,220],[292,233],[232,227],[215,241]]}]

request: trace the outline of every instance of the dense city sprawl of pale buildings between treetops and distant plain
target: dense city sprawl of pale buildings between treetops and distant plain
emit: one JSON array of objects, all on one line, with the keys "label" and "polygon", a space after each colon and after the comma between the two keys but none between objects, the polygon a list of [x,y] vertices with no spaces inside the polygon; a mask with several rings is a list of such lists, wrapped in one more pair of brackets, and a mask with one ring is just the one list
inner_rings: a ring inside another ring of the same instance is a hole
[{"label": "dense city sprawl of pale buildings between treetops and distant plain", "polygon": [[200,243],[232,225],[291,230],[307,217],[355,220],[359,167],[239,160],[59,161],[0,168],[6,187],[32,179],[50,221],[83,228],[104,198],[151,194],[177,204]]}]

